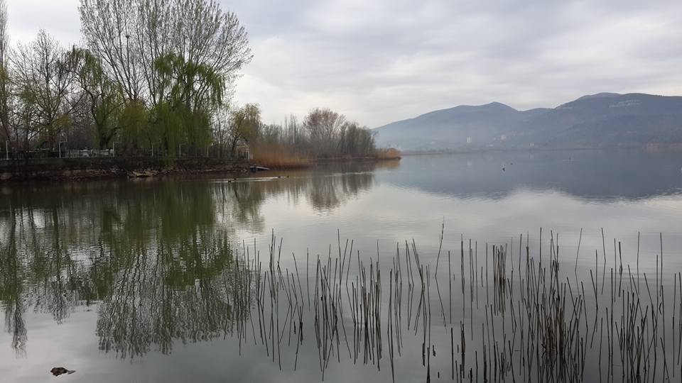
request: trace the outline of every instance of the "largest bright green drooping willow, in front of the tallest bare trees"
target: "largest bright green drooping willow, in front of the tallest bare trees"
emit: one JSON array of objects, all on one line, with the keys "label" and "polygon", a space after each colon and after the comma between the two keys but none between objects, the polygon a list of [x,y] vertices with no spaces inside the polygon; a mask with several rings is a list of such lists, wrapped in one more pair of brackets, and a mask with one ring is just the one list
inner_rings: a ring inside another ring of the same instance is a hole
[{"label": "largest bright green drooping willow, in front of the tallest bare trees", "polygon": [[224,76],[174,54],[159,57],[154,69],[161,100],[152,109],[152,125],[163,147],[171,155],[182,143],[206,148],[212,137],[212,113],[223,103]]}]

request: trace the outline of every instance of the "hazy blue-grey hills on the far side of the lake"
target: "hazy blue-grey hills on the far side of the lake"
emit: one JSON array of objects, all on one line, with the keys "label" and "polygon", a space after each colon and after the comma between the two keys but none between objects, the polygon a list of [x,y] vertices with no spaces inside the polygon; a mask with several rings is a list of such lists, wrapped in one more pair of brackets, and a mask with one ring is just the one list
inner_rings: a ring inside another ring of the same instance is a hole
[{"label": "hazy blue-grey hills on the far side of the lake", "polygon": [[682,143],[682,97],[600,93],[554,109],[494,102],[455,106],[376,128],[377,143],[404,151],[607,148]]}]

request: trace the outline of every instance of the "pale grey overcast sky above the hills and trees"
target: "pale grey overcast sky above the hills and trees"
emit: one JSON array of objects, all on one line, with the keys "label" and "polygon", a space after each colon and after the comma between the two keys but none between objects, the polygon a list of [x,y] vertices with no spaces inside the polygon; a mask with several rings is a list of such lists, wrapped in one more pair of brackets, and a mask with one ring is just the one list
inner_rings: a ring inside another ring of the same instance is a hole
[{"label": "pale grey overcast sky above the hills and trees", "polygon": [[[80,40],[78,0],[6,0],[13,43]],[[249,31],[239,104],[369,127],[459,104],[682,95],[682,1],[220,0]]]}]

